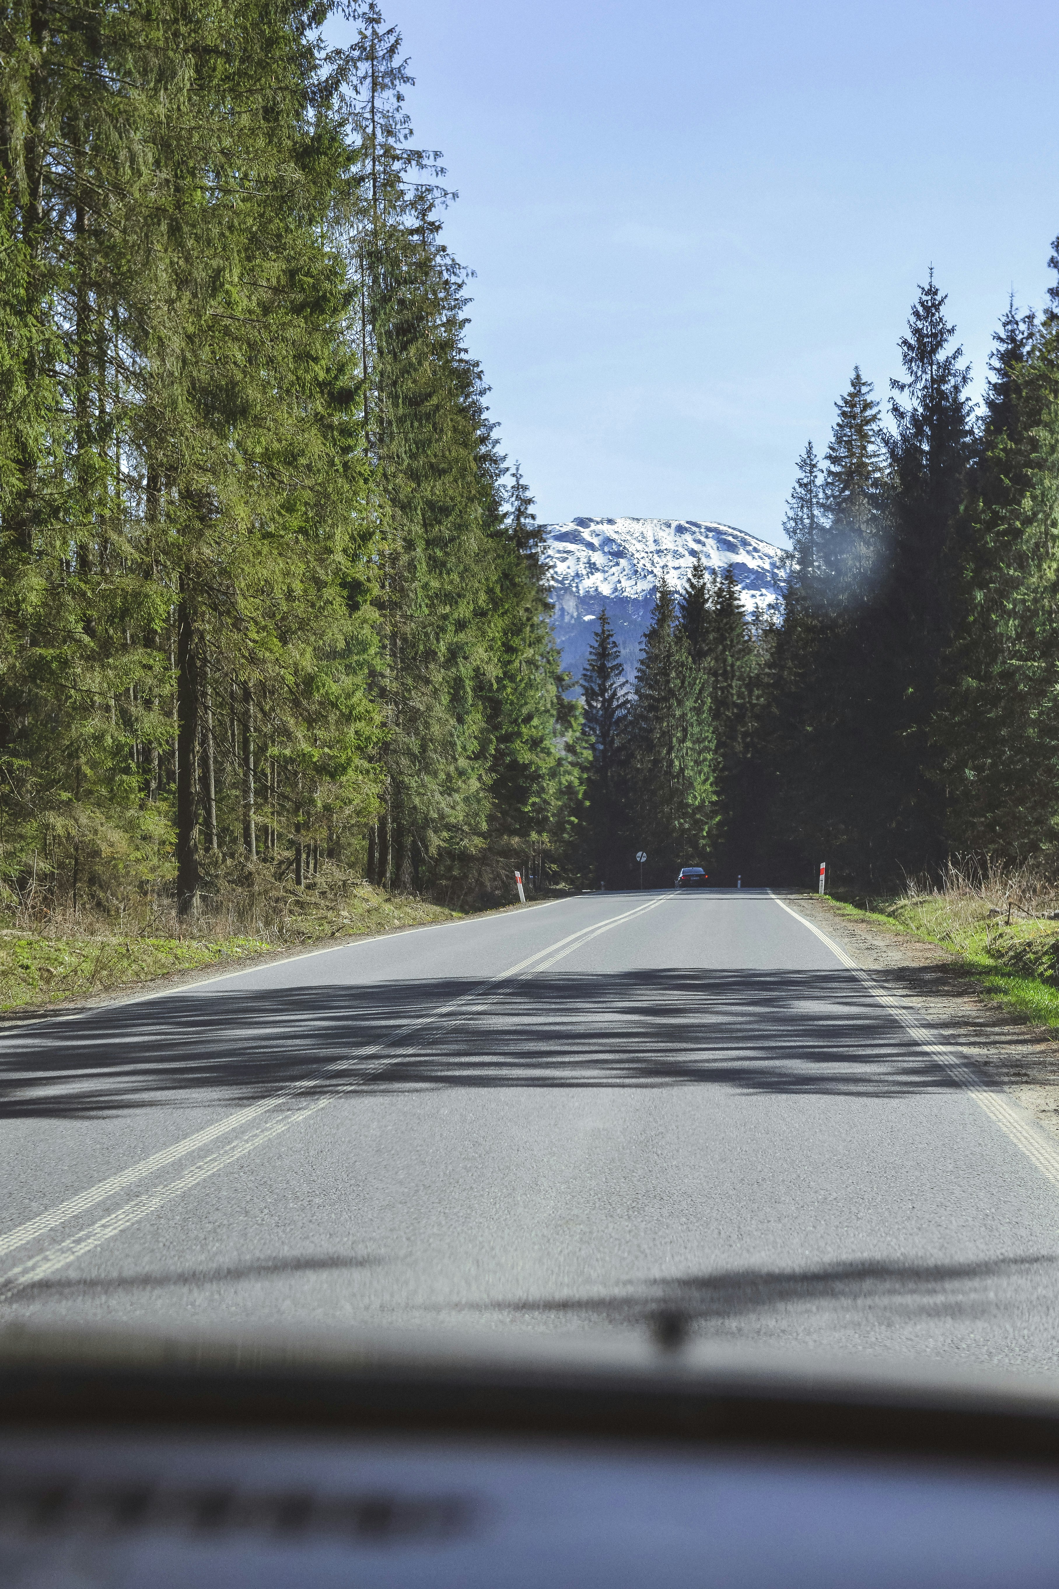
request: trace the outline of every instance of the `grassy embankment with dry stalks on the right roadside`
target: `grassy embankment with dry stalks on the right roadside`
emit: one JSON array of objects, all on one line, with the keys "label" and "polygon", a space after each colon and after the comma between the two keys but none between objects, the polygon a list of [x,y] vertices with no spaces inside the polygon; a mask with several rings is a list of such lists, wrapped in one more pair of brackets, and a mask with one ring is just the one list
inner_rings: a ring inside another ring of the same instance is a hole
[{"label": "grassy embankment with dry stalks on the right roadside", "polygon": [[1022,1019],[1059,1026],[1059,887],[1026,872],[973,877],[951,868],[940,888],[910,887],[844,915],[938,944],[991,996]]}]

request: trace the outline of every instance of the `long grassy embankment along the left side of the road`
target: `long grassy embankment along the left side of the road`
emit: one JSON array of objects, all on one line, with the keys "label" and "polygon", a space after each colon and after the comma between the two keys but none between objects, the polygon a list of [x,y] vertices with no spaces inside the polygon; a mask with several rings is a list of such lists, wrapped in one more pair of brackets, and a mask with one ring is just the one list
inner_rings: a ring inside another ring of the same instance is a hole
[{"label": "long grassy embankment along the left side of the road", "polygon": [[[245,893],[245,891],[243,891]],[[151,982],[173,971],[197,971],[240,957],[296,944],[382,933],[455,920],[460,912],[367,883],[313,879],[308,888],[270,888],[248,906],[243,896],[175,934],[172,907],[145,910],[121,923],[48,912],[13,912],[0,926],[0,1011],[65,1004],[91,995]]]}]

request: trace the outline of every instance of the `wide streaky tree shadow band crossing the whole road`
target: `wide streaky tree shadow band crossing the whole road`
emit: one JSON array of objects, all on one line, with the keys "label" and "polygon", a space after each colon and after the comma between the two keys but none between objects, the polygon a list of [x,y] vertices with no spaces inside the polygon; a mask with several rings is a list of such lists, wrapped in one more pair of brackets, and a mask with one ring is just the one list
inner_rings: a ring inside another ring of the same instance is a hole
[{"label": "wide streaky tree shadow band crossing the whole road", "polygon": [[[900,974],[875,974],[900,992]],[[453,999],[466,1003],[437,1015]],[[984,1085],[1002,1087],[991,1069]],[[226,1108],[297,1085],[701,1087],[906,1096],[957,1087],[848,971],[638,969],[196,992],[0,1041],[0,1117]]]}]

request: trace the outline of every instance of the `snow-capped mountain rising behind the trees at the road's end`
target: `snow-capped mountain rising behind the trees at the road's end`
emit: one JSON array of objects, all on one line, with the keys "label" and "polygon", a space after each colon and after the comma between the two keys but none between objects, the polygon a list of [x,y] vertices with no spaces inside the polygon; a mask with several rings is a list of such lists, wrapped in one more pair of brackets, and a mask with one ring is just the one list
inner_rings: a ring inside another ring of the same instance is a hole
[{"label": "snow-capped mountain rising behind the trees at the road's end", "polygon": [[708,569],[733,569],[751,610],[779,599],[779,547],[731,524],[696,518],[571,518],[544,529],[555,578],[555,634],[563,666],[574,679],[585,666],[601,607],[607,609],[631,679],[663,569],[671,585],[684,590],[696,555]]}]

